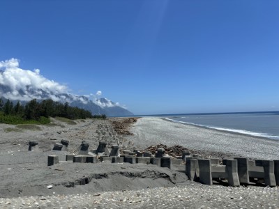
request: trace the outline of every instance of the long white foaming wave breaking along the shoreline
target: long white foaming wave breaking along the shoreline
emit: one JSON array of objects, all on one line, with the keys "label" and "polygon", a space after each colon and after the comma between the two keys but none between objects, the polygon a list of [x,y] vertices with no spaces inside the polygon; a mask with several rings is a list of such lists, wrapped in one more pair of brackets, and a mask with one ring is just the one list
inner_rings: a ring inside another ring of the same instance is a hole
[{"label": "long white foaming wave breaking along the shoreline", "polygon": [[187,124],[187,125],[196,125],[199,127],[206,127],[206,128],[210,128],[213,130],[221,130],[221,131],[225,131],[225,132],[235,132],[238,134],[246,134],[246,135],[250,135],[252,137],[265,137],[265,138],[269,138],[269,139],[278,139],[279,140],[279,136],[276,136],[273,134],[267,134],[267,133],[261,133],[261,132],[251,132],[248,130],[238,130],[238,129],[232,129],[232,128],[226,128],[226,127],[215,127],[215,126],[211,126],[211,125],[201,125],[201,124],[189,123],[189,122],[184,122],[184,121],[175,121],[170,118],[165,118],[165,120],[172,121],[174,123],[183,123],[183,124]]}]

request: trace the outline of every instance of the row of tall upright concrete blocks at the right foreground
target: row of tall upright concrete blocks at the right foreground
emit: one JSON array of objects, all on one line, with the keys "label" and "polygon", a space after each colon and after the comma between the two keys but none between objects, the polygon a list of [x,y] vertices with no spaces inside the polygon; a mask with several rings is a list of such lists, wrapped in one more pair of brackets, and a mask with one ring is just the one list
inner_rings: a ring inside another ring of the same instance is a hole
[{"label": "row of tall upright concrete blocks at the right foreground", "polygon": [[274,187],[279,185],[279,160],[255,160],[236,157],[234,160],[223,160],[223,165],[218,164],[218,159],[186,160],[186,174],[190,180],[199,180],[206,185],[212,185],[213,178],[225,178],[229,185],[239,186],[263,179],[265,185]]}]

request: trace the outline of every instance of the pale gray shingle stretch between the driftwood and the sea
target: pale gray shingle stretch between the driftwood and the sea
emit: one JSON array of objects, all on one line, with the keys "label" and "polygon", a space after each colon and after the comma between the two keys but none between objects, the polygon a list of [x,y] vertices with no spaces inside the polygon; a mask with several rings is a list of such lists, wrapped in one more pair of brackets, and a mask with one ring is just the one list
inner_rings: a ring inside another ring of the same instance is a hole
[{"label": "pale gray shingle stretch between the driftwood and the sea", "polygon": [[253,159],[279,159],[278,140],[210,130],[165,121],[162,118],[140,118],[130,131],[135,135],[128,139],[139,148],[154,144],[181,145],[193,150],[241,155]]}]

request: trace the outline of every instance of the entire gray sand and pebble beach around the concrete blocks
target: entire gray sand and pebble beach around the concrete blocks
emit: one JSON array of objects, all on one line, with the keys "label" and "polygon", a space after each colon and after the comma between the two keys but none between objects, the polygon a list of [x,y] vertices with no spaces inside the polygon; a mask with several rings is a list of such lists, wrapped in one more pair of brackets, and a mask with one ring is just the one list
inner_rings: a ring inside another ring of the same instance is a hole
[{"label": "entire gray sand and pebble beach around the concrete blocks", "polygon": [[[165,144],[204,156],[279,159],[278,141],[163,118],[123,120],[129,118],[0,124],[0,208],[278,208],[278,187],[202,185],[188,180],[185,165],[169,170],[152,164],[65,162],[82,140],[92,149],[99,141],[118,142],[126,150]],[[61,139],[69,140],[69,152],[50,150]],[[40,150],[27,151],[29,140],[38,141]],[[53,154],[62,162],[47,167],[47,155]]]}]

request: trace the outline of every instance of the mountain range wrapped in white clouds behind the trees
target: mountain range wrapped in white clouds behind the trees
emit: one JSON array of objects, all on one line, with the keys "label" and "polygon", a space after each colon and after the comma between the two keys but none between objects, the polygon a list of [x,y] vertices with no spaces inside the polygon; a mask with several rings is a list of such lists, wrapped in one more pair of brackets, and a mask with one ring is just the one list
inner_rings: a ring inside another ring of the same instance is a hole
[{"label": "mountain range wrapped in white clouds behind the trees", "polygon": [[[105,98],[100,98],[102,91],[90,95],[74,95],[69,93],[68,86],[54,82],[40,75],[40,70],[24,70],[20,68],[20,61],[10,59],[0,61],[0,93],[1,97],[10,100],[29,101],[33,99],[45,100],[50,98],[56,102],[69,102],[72,106],[82,107],[90,110],[93,114],[104,114],[110,108],[110,115],[114,114],[112,108],[126,109],[118,102],[112,102]],[[93,100],[89,98],[93,97]],[[100,99],[98,99],[100,98]],[[127,111],[127,114],[131,113]]]}]

